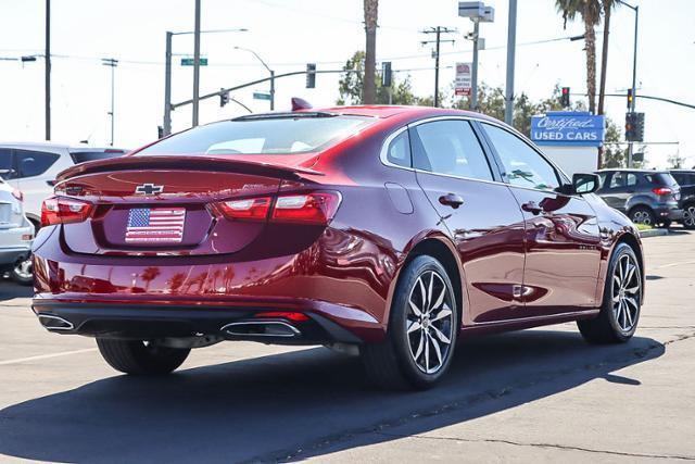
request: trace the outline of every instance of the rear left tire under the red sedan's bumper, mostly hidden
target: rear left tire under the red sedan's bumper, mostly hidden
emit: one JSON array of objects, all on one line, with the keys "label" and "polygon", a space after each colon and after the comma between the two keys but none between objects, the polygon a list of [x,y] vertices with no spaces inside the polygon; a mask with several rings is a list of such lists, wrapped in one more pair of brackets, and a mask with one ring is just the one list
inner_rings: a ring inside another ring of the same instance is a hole
[{"label": "rear left tire under the red sedan's bumper, mostly hidden", "polygon": [[131,375],[163,375],[180,366],[190,349],[168,348],[142,340],[97,338],[97,346],[111,367]]}]

